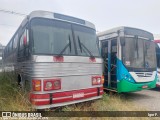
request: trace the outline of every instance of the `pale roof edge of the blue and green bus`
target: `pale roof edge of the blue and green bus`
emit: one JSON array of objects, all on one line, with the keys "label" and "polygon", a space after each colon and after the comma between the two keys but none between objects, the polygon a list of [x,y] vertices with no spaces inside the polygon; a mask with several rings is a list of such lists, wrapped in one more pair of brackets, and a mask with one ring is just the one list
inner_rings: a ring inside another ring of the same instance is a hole
[{"label": "pale roof edge of the blue and green bus", "polygon": [[126,27],[126,26],[120,26],[120,27],[116,27],[110,30],[106,30],[106,31],[98,33],[97,35],[104,36],[104,35],[109,35],[109,34],[118,33],[118,32],[124,32],[125,35],[138,35],[138,36],[145,37],[145,38],[147,37],[153,40],[152,33],[142,30],[142,29]]}]

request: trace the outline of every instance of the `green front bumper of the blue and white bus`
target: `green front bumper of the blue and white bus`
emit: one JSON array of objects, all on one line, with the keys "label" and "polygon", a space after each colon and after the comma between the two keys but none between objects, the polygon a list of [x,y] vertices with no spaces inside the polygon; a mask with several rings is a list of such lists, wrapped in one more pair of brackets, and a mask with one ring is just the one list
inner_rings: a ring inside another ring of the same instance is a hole
[{"label": "green front bumper of the blue and white bus", "polygon": [[146,82],[146,83],[132,83],[127,80],[120,80],[118,82],[118,89],[117,92],[136,92],[140,90],[145,90],[145,89],[151,89],[156,87],[156,79],[151,82]]}]

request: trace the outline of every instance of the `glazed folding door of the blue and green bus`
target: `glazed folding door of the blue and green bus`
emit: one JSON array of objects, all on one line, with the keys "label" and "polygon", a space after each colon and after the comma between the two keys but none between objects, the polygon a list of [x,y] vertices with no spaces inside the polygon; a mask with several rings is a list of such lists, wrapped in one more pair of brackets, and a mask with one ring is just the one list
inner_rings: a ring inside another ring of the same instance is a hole
[{"label": "glazed folding door of the blue and green bus", "polygon": [[104,88],[117,88],[117,39],[102,41],[102,57],[104,60]]}]

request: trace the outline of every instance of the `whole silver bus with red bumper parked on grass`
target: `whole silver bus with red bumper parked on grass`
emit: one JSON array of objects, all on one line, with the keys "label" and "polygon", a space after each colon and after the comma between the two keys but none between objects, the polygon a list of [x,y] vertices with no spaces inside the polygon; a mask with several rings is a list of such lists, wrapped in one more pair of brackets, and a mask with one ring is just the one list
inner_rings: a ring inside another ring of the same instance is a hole
[{"label": "whole silver bus with red bumper parked on grass", "polygon": [[4,50],[4,71],[14,71],[36,109],[102,97],[102,59],[95,26],[85,20],[33,11]]}]

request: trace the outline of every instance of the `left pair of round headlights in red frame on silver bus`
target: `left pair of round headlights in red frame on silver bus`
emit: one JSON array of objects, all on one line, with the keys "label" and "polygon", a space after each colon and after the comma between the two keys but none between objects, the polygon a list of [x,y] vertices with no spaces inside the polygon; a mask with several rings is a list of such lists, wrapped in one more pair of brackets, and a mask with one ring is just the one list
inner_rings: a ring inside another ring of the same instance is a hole
[{"label": "left pair of round headlights in red frame on silver bus", "polygon": [[44,80],[44,91],[59,90],[61,89],[60,79],[48,79]]}]

